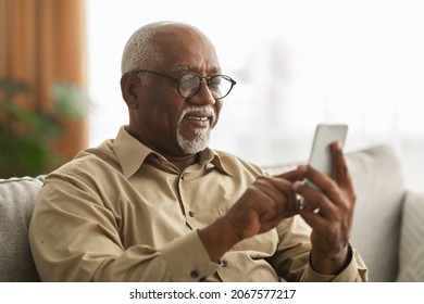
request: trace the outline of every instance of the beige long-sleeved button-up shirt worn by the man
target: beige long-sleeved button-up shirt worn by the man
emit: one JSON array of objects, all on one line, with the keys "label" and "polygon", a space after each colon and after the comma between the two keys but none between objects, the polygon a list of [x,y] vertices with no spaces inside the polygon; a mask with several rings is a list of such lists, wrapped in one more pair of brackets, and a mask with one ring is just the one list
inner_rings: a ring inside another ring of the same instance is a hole
[{"label": "beige long-sleeved button-up shirt worn by the man", "polygon": [[197,230],[224,215],[265,173],[205,149],[179,172],[125,130],[51,173],[29,241],[45,281],[363,281],[353,250],[338,276],[309,266],[310,228],[299,217],[237,243],[220,264]]}]

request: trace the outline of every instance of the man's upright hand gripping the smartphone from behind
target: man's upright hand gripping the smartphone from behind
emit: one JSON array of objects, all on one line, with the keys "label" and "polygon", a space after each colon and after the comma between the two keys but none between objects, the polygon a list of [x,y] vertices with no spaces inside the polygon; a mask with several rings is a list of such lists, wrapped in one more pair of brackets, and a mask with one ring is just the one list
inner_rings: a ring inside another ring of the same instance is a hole
[{"label": "man's upright hand gripping the smartphone from behind", "polygon": [[321,274],[338,274],[348,262],[348,245],[352,226],[356,194],[341,145],[332,144],[335,179],[309,166],[300,166],[304,177],[320,190],[295,182],[295,191],[311,203],[300,210],[303,219],[311,226],[312,267]]}]

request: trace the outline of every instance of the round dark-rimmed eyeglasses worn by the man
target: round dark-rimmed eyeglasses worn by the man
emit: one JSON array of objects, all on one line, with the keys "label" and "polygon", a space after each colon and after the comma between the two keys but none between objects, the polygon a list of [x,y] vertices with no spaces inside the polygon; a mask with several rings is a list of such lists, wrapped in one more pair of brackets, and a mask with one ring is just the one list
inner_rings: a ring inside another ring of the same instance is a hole
[{"label": "round dark-rimmed eyeglasses worn by the man", "polygon": [[141,72],[162,76],[177,83],[178,93],[183,98],[191,98],[197,94],[200,91],[203,81],[205,81],[209,90],[211,91],[212,97],[215,100],[223,99],[224,97],[229,94],[233,87],[237,84],[235,80],[233,80],[232,77],[226,75],[213,75],[209,77],[202,77],[196,73],[187,73],[180,77],[173,77],[149,69],[137,69],[133,72],[133,74],[136,75]]}]

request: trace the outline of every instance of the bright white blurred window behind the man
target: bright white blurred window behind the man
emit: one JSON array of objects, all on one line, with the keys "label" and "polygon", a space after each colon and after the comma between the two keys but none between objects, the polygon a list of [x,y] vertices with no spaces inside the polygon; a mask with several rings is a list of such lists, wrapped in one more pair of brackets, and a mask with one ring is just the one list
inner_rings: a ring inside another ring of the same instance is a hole
[{"label": "bright white blurred window behind the man", "polygon": [[[242,5],[242,8],[240,7]],[[158,20],[198,26],[237,80],[211,145],[259,164],[308,159],[317,123],[347,123],[346,150],[395,147],[424,187],[424,18],[420,1],[87,1],[90,143],[127,123],[123,47]]]}]

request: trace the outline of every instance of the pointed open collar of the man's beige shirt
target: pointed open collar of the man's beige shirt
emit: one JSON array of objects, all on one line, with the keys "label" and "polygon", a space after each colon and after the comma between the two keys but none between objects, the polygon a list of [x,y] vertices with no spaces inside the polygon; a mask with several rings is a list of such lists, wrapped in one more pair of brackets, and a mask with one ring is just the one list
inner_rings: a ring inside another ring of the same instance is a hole
[{"label": "pointed open collar of the man's beige shirt", "polygon": [[[130,136],[125,129],[125,126],[120,128],[120,131],[113,142],[113,150],[121,164],[125,178],[132,177],[151,153],[161,156],[159,153],[149,149],[136,138]],[[208,165],[210,163],[224,174],[230,175],[229,172],[225,169],[221,157],[210,148],[199,152],[198,163],[200,165]]]}]

